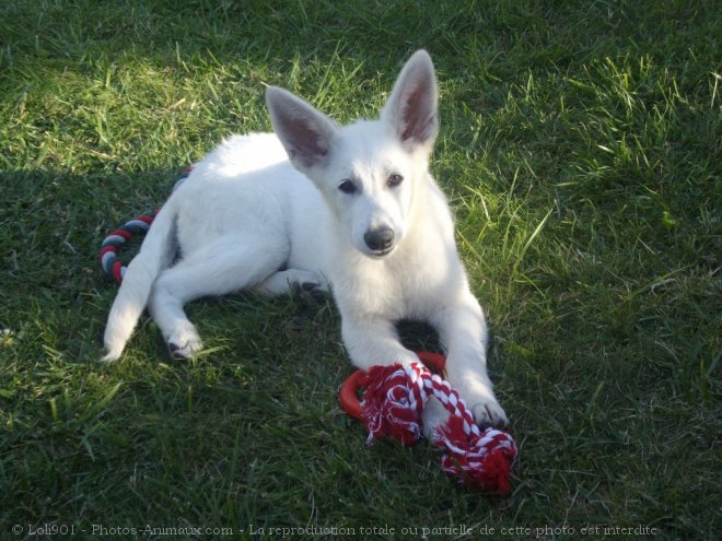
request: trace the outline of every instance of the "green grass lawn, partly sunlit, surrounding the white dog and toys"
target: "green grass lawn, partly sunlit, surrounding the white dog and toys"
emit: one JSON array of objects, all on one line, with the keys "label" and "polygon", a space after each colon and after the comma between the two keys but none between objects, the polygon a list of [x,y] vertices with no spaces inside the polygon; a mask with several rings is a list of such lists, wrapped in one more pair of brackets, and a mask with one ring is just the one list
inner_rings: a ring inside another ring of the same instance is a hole
[{"label": "green grass lawn, partly sunlit, surrounding the white dog and toys", "polygon": [[[3,2],[0,537],[578,539],[607,525],[717,539],[721,8]],[[430,446],[364,444],[336,402],[350,367],[330,302],[194,303],[208,349],[193,362],[171,362],[144,318],[120,363],[96,363],[110,228],[162,203],[223,137],[267,130],[265,84],[348,121],[376,111],[418,47],[440,79],[433,173],[520,445],[506,498],[458,487]]]}]

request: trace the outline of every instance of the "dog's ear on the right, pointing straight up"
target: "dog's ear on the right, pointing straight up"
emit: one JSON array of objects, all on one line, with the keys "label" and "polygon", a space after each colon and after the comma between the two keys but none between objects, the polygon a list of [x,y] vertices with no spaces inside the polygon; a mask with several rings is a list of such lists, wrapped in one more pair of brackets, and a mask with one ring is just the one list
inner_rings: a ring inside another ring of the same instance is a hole
[{"label": "dog's ear on the right, pointing straight up", "polygon": [[381,111],[405,146],[431,151],[439,133],[439,91],[429,54],[417,50],[401,70],[392,95]]}]

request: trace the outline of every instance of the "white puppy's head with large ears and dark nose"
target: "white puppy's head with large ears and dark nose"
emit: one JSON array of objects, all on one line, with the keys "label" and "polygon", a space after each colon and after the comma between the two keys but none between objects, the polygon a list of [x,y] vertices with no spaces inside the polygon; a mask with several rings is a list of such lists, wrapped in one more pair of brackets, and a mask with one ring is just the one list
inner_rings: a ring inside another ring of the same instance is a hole
[{"label": "white puppy's head with large ears and dark nose", "polygon": [[291,163],[324,195],[353,247],[372,258],[394,251],[407,232],[416,187],[427,181],[439,132],[429,55],[419,50],[404,66],[377,120],[339,127],[275,86],[266,102]]}]

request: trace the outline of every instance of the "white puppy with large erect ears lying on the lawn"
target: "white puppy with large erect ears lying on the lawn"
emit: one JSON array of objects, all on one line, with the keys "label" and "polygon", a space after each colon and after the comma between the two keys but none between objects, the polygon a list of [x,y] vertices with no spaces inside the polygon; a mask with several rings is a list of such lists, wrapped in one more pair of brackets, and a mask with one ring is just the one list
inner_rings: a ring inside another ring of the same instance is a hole
[{"label": "white puppy with large erect ears lying on the lawn", "polygon": [[477,422],[505,424],[487,376],[484,311],[429,173],[439,131],[429,55],[409,59],[379,120],[339,127],[278,87],[266,101],[276,134],[222,143],[158,214],[110,309],[104,360],[120,356],[145,306],[172,354],[189,357],[201,348],[183,310],[194,298],[330,289],[354,365],[418,362],[395,324],[424,320]]}]

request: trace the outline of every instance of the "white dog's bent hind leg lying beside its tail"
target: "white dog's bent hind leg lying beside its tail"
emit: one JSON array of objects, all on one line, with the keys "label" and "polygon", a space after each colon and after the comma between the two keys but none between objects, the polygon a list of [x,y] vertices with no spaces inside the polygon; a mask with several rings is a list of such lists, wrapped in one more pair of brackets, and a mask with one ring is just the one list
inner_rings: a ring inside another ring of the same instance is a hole
[{"label": "white dog's bent hind leg lying beside its tail", "polygon": [[183,307],[203,297],[255,287],[284,262],[283,246],[219,239],[166,269],[153,284],[148,308],[171,354],[189,358],[202,343]]}]

